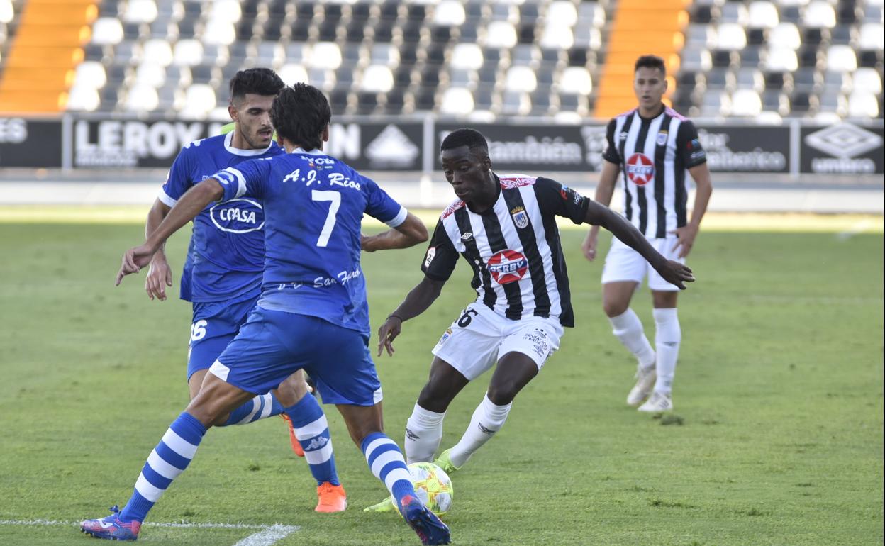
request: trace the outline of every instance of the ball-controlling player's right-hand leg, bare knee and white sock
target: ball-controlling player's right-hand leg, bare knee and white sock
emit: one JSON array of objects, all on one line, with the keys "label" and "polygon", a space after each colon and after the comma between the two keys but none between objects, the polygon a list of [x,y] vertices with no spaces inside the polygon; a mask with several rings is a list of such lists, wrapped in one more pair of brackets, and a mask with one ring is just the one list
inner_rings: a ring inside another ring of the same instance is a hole
[{"label": "ball-controlling player's right-hand leg, bare knee and white sock", "polygon": [[538,365],[521,352],[509,352],[498,360],[495,373],[489,381],[489,391],[473,411],[470,425],[461,440],[435,463],[447,473],[455,472],[492,436],[504,427],[513,398],[538,374]]}]

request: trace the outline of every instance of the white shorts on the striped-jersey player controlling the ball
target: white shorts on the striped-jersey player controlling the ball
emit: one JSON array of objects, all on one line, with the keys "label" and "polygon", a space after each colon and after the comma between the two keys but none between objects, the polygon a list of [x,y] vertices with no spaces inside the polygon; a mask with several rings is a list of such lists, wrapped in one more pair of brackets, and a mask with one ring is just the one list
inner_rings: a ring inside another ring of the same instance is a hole
[{"label": "white shorts on the striped-jersey player controlling the ball", "polygon": [[563,327],[559,319],[505,319],[483,304],[470,304],[451,323],[433,353],[473,381],[509,352],[535,361],[538,371],[559,349]]}]

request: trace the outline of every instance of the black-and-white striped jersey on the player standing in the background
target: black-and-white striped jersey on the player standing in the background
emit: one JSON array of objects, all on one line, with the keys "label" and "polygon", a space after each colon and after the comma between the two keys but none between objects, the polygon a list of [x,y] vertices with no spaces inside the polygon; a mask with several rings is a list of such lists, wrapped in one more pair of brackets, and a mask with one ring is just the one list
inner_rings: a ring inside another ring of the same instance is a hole
[{"label": "black-and-white striped jersey on the player standing in the background", "polygon": [[652,119],[631,110],[612,118],[606,137],[603,158],[624,181],[624,216],[649,239],[685,226],[685,175],[707,160],[695,125],[670,108]]}]

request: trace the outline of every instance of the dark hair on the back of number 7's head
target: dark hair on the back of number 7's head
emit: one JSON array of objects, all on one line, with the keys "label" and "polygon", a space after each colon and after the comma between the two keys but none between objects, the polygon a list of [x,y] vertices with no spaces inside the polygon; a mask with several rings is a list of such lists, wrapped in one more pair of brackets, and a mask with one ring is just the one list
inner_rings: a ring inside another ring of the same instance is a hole
[{"label": "dark hair on the back of number 7's head", "polygon": [[271,123],[277,135],[305,150],[319,148],[323,130],[331,119],[332,109],[326,96],[306,83],[283,86],[271,106]]}]

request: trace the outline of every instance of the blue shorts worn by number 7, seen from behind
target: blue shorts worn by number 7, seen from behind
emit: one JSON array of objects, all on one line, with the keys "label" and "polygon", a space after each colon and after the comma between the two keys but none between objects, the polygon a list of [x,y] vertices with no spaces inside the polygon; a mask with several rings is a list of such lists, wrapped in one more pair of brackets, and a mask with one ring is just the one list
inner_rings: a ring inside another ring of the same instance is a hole
[{"label": "blue shorts worn by number 7, seen from behind", "polygon": [[324,404],[381,402],[368,337],[309,315],[256,307],[210,373],[263,395],[296,370],[309,373]]}]

